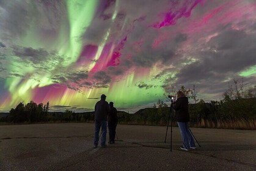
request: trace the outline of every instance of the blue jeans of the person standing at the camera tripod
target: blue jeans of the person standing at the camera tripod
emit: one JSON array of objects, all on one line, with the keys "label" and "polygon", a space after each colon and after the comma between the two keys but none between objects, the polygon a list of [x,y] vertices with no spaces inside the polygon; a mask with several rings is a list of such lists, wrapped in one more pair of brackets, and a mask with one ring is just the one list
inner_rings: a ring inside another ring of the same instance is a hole
[{"label": "blue jeans of the person standing at the camera tripod", "polygon": [[192,134],[188,129],[188,122],[177,122],[180,128],[180,134],[183,141],[183,147],[189,149],[189,147],[196,147]]}]

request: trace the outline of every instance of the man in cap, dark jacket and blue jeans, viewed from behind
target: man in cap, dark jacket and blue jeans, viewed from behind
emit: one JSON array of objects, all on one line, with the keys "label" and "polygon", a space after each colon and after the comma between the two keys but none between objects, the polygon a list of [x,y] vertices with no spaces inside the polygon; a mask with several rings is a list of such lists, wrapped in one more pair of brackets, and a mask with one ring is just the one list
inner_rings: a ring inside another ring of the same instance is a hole
[{"label": "man in cap, dark jacket and blue jeans, viewed from behind", "polygon": [[100,96],[100,101],[95,104],[95,128],[94,128],[94,148],[98,147],[99,132],[101,128],[101,147],[106,147],[107,115],[109,114],[109,104],[106,95]]}]

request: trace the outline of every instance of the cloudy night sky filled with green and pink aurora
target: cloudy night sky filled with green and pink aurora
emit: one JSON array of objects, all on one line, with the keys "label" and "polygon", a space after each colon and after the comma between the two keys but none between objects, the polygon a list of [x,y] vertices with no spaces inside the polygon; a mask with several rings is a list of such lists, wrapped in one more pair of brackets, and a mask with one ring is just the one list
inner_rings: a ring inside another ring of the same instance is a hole
[{"label": "cloudy night sky filled with green and pink aurora", "polygon": [[171,87],[219,100],[256,83],[255,0],[1,0],[0,112],[18,103],[126,111]]}]

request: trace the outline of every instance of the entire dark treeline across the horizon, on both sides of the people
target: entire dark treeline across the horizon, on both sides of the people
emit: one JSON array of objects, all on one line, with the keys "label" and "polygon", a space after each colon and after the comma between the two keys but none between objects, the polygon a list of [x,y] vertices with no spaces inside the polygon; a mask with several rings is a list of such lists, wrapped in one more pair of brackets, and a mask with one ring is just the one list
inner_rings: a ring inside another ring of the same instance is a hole
[{"label": "entire dark treeline across the horizon, on both sides of the people", "polygon": [[[256,129],[256,85],[243,89],[244,85],[234,80],[234,85],[224,92],[224,98],[220,101],[205,103],[197,99],[196,87],[183,91],[192,101],[189,104],[190,124],[203,128],[238,128]],[[172,93],[175,95],[175,91]],[[119,111],[117,116],[119,123],[137,125],[165,126],[169,120],[170,105],[158,100],[152,108],[141,109],[135,114]],[[173,116],[175,121],[175,112]],[[0,122],[10,123],[35,123],[35,122],[94,122],[94,112],[75,113],[71,110],[65,112],[49,112],[47,104],[36,104],[30,101],[26,105],[18,104],[15,109],[10,109],[10,115],[0,118]],[[174,125],[176,123],[174,122]]]}]

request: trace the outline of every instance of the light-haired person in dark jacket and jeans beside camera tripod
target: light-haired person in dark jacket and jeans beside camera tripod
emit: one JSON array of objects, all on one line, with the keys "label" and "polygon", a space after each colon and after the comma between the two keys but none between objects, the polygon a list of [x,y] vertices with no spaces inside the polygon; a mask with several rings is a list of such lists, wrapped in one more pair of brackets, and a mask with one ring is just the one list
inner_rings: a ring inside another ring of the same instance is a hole
[{"label": "light-haired person in dark jacket and jeans beside camera tripod", "polygon": [[183,140],[183,145],[180,147],[181,150],[188,151],[189,148],[195,149],[196,144],[188,127],[190,119],[188,112],[188,97],[181,91],[177,92],[177,100],[174,101],[174,110],[176,111],[177,123]]}]

